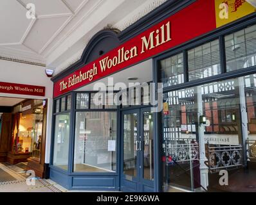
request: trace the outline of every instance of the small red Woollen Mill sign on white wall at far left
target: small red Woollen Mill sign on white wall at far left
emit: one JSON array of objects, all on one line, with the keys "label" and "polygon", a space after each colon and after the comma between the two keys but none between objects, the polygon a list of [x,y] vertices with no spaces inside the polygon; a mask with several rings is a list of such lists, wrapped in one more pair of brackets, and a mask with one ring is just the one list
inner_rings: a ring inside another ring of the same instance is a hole
[{"label": "small red Woollen Mill sign on white wall at far left", "polygon": [[45,87],[35,85],[24,85],[17,83],[0,82],[0,93],[44,96]]}]

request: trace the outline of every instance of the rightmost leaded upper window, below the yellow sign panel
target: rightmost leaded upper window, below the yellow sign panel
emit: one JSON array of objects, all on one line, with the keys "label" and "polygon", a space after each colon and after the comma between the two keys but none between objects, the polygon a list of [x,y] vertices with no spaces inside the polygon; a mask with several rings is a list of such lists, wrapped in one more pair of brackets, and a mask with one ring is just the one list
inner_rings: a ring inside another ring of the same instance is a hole
[{"label": "rightmost leaded upper window, below the yellow sign panel", "polygon": [[256,25],[225,36],[226,71],[256,65]]}]

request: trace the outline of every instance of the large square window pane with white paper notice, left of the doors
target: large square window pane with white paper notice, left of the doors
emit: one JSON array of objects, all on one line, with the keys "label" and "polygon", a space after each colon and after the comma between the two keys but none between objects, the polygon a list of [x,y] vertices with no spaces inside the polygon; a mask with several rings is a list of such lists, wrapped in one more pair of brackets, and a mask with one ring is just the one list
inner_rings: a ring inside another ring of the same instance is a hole
[{"label": "large square window pane with white paper notice, left of the doors", "polygon": [[77,112],[74,172],[116,170],[116,112]]}]

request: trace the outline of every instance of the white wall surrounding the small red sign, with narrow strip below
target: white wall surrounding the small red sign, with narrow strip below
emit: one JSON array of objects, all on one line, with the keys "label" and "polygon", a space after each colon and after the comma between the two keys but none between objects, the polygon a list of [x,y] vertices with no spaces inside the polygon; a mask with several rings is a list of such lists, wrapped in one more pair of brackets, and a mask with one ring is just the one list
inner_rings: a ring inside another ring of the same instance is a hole
[{"label": "white wall surrounding the small red sign, with narrow strip below", "polygon": [[14,61],[0,60],[0,81],[6,83],[20,83],[26,85],[44,86],[46,94],[44,97],[33,95],[18,95],[18,94],[3,94],[1,97],[18,97],[26,99],[48,99],[48,113],[46,124],[46,157],[45,163],[50,160],[50,145],[51,145],[51,115],[52,115],[52,97],[53,97],[53,82],[45,74],[45,67],[37,65],[29,65],[17,63]]}]

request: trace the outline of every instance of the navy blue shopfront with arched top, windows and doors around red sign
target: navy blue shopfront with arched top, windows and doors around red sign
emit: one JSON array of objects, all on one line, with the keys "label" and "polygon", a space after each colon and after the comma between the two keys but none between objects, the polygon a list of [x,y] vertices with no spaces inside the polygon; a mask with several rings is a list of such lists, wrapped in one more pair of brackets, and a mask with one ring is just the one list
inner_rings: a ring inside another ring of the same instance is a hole
[{"label": "navy blue shopfront with arched top, windows and doors around red sign", "polygon": [[[59,82],[199,1],[170,0],[122,32],[99,31],[81,59],[52,80]],[[217,183],[221,169],[234,176],[251,171],[256,167],[255,24],[254,12],[146,58],[152,59],[147,83],[162,83],[163,111],[143,104],[98,105],[94,91],[55,97],[50,179],[69,190],[201,191],[223,190]]]}]

